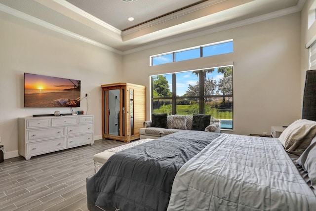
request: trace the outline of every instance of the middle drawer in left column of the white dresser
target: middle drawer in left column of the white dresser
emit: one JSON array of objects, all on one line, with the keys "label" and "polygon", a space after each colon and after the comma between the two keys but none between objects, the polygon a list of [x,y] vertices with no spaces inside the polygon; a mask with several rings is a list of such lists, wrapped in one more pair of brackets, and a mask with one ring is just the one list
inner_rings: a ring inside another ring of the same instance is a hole
[{"label": "middle drawer in left column of the white dresser", "polygon": [[58,138],[64,136],[64,127],[36,129],[27,131],[27,142],[45,138]]}]

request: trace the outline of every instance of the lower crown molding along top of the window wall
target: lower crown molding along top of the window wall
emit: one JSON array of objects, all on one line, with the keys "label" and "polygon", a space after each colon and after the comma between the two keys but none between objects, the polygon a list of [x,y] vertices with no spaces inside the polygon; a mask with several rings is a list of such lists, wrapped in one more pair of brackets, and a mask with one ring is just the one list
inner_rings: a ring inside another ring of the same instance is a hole
[{"label": "lower crown molding along top of the window wall", "polygon": [[[303,1],[303,2],[302,2]],[[162,41],[162,42],[156,42],[153,44],[148,44],[145,46],[141,46],[141,47],[137,47],[137,48],[133,48],[130,50],[125,50],[123,51],[122,55],[127,55],[130,53],[135,53],[135,52],[139,52],[142,50],[147,50],[153,47],[158,47],[161,45],[165,45],[165,44],[170,44],[170,43],[174,43],[174,42],[179,42],[179,41],[184,41],[184,40],[188,40],[188,39],[192,39],[192,38],[196,38],[196,37],[200,37],[200,36],[204,36],[204,35],[208,35],[208,34],[212,34],[212,33],[216,33],[216,32],[221,32],[224,30],[229,30],[229,29],[233,29],[233,28],[237,28],[237,27],[241,27],[241,26],[245,26],[245,25],[249,25],[249,24],[253,24],[253,23],[258,23],[261,21],[265,21],[265,20],[269,20],[269,19],[273,19],[273,18],[277,18],[283,15],[288,15],[291,13],[295,13],[295,12],[299,12],[302,9],[302,4],[304,5],[305,0],[299,0],[297,5],[292,6],[292,7],[288,7],[285,9],[281,9],[275,12],[271,12],[271,13],[267,13],[264,15],[259,15],[253,18],[248,18],[245,20],[241,20],[241,21],[237,21],[231,24],[226,24],[223,26],[219,26],[219,27],[215,27],[212,29],[208,29],[208,30],[204,30],[201,32],[196,32],[196,33],[192,33],[190,35],[185,35],[185,36],[181,36],[181,37],[177,37],[177,38],[173,38],[173,39],[169,39],[167,41]]]}]

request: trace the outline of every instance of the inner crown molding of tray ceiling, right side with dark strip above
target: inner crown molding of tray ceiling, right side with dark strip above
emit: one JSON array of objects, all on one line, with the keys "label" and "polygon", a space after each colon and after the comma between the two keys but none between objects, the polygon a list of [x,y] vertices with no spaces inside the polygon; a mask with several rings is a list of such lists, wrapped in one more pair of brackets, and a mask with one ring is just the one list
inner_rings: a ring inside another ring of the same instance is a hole
[{"label": "inner crown molding of tray ceiling, right side with dark strip above", "polygon": [[124,36],[124,35],[128,35],[128,34],[132,34],[132,33],[135,33],[135,32],[137,32],[137,31],[146,29],[146,28],[148,28],[148,27],[157,25],[157,24],[159,24],[159,23],[162,23],[162,22],[165,22],[165,21],[168,21],[168,20],[171,20],[171,19],[174,19],[174,18],[183,16],[183,15],[189,14],[189,13],[191,13],[191,12],[195,12],[195,11],[197,11],[197,10],[200,10],[200,9],[203,9],[203,8],[206,8],[206,7],[209,7],[209,6],[212,6],[212,5],[214,5],[214,4],[217,4],[217,3],[220,3],[220,2],[223,2],[223,1],[226,1],[226,0],[208,0],[208,1],[205,1],[205,2],[202,2],[202,3],[199,3],[199,4],[197,4],[197,5],[191,6],[191,7],[189,7],[189,8],[180,10],[180,11],[178,11],[178,12],[174,12],[174,13],[172,13],[172,14],[169,14],[169,15],[163,16],[163,17],[161,17],[161,18],[152,20],[152,21],[150,21],[150,22],[144,23],[144,24],[142,24],[142,25],[133,27],[133,28],[128,29],[128,30],[126,30],[126,31],[122,31],[122,32],[121,32],[121,35]]}]

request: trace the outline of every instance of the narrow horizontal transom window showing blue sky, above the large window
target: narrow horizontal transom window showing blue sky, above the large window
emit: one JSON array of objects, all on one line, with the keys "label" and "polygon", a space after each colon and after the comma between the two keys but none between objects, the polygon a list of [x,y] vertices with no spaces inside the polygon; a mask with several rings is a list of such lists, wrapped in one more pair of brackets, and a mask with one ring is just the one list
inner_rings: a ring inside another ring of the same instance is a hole
[{"label": "narrow horizontal transom window showing blue sky, above the large window", "polygon": [[151,66],[234,52],[233,40],[210,43],[151,56]]}]

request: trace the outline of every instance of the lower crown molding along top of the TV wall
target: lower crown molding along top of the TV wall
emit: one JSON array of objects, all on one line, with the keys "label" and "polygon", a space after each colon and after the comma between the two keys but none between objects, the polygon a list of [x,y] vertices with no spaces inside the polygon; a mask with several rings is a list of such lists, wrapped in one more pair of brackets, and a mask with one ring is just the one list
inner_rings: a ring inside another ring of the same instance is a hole
[{"label": "lower crown molding along top of the TV wall", "polygon": [[58,26],[55,26],[53,24],[50,24],[50,23],[47,23],[43,20],[40,20],[39,18],[36,18],[36,17],[33,17],[31,15],[28,15],[24,12],[21,12],[21,11],[18,11],[16,9],[13,9],[11,7],[8,7],[6,5],[3,5],[0,3],[0,11],[2,12],[5,12],[7,14],[10,14],[10,15],[13,15],[15,17],[18,17],[18,18],[21,18],[23,20],[26,20],[26,21],[29,21],[31,23],[34,23],[34,24],[37,24],[41,27],[44,27],[44,28],[47,28],[47,29],[50,29],[52,31],[55,31],[55,32],[58,32],[58,33],[61,33],[63,35],[66,35],[66,36],[69,36],[69,37],[72,37],[72,38],[75,38],[77,40],[80,40],[80,41],[83,41],[83,42],[87,42],[87,43],[90,43],[90,44],[93,44],[95,46],[98,46],[98,47],[101,47],[101,48],[104,48],[106,50],[109,50],[109,51],[112,51],[112,52],[115,52],[115,53],[118,53],[120,55],[122,55],[122,51],[118,50],[118,49],[115,49],[113,47],[110,47],[106,44],[102,44],[100,42],[96,42],[94,40],[91,40],[91,39],[88,39],[86,37],[83,37],[81,35],[78,35],[76,33],[73,33],[73,32],[70,32],[66,29],[63,29],[61,27],[58,27]]}]

